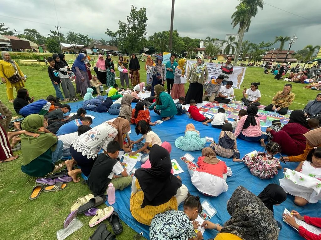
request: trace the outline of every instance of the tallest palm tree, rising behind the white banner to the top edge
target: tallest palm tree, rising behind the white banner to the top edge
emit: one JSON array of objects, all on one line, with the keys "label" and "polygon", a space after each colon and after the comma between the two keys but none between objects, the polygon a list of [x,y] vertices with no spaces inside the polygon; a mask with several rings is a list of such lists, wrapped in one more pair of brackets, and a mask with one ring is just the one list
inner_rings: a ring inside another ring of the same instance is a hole
[{"label": "tallest palm tree, rising behind the white banner to the top edge", "polygon": [[244,33],[250,28],[251,18],[256,16],[258,8],[263,9],[263,0],[242,0],[242,2],[236,6],[236,11],[231,16],[233,28],[239,25],[239,47],[235,52],[234,64],[238,62]]}]

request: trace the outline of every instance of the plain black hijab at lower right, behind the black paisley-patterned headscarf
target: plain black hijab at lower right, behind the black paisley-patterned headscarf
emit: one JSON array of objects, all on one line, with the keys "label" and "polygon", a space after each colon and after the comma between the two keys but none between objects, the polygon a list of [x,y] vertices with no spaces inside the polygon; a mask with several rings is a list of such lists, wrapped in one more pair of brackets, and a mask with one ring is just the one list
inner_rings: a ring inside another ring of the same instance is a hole
[{"label": "plain black hijab at lower right, behind the black paisley-patterned headscarf", "polygon": [[286,200],[286,192],[281,186],[271,183],[258,195],[264,205],[273,212],[273,205],[281,204]]}]

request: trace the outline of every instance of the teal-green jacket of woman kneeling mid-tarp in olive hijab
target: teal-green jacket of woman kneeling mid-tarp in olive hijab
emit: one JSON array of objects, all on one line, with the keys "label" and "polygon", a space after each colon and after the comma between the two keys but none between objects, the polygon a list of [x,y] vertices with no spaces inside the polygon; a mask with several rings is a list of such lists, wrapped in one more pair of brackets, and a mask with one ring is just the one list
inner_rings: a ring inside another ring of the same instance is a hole
[{"label": "teal-green jacket of woman kneeling mid-tarp in olive hijab", "polygon": [[171,117],[177,114],[177,108],[171,96],[167,92],[160,93],[161,105],[156,105],[154,102],[149,109],[152,110],[156,106],[156,110],[160,110],[160,116]]}]

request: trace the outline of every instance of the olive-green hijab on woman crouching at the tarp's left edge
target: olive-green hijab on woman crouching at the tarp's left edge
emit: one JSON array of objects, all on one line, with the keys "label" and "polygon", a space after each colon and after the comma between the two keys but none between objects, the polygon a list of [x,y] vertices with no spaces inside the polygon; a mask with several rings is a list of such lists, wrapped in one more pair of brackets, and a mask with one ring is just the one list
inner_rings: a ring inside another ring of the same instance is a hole
[{"label": "olive-green hijab on woman crouching at the tarp's left edge", "polygon": [[[43,116],[31,114],[22,121],[22,129],[32,133],[38,133],[40,136],[34,138],[21,135],[21,150],[22,150],[22,165],[25,166],[41,154],[45,153],[49,148],[55,151],[58,138],[51,133],[38,132],[40,127],[43,127]],[[53,146],[55,145],[55,146]]]}]

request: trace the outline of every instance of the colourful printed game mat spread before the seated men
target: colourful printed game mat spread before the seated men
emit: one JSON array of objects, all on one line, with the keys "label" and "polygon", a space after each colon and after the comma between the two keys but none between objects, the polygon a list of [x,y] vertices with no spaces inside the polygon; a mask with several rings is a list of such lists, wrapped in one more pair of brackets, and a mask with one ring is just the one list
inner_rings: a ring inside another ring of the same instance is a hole
[{"label": "colourful printed game mat spread before the seated men", "polygon": [[[211,118],[217,113],[217,110],[219,108],[225,109],[225,114],[228,118],[238,119],[239,110],[247,109],[247,106],[245,106],[244,103],[240,101],[233,101],[233,103],[230,104],[209,102],[205,104],[203,107],[199,108],[199,111],[204,116]],[[289,110],[288,114],[280,115],[278,113],[265,111],[264,105],[260,105],[258,108],[259,109],[257,115],[259,116],[262,127],[271,126],[273,120],[280,120],[282,125],[287,124],[289,122],[290,113],[292,112],[291,110]]]}]

